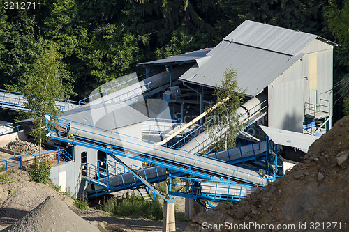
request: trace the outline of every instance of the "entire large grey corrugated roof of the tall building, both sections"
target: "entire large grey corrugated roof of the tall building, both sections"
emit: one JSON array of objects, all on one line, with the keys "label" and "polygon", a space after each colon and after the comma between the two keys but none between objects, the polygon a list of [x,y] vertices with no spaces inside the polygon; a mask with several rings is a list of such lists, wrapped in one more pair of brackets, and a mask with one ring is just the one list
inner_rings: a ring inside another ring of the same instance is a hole
[{"label": "entire large grey corrugated roof of the tall building, both sections", "polygon": [[193,66],[179,79],[203,86],[221,84],[226,68],[237,72],[239,88],[255,96],[304,54],[299,53],[319,36],[246,20],[224,38],[203,65]]}]

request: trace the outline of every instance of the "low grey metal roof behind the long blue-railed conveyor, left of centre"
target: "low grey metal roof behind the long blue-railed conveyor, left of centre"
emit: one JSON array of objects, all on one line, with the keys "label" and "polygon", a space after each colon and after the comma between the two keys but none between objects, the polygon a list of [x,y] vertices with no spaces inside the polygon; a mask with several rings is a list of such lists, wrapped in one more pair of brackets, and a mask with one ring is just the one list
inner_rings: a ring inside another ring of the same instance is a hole
[{"label": "low grey metal roof behind the long blue-railed conveyor, left of centre", "polygon": [[104,130],[113,130],[147,121],[149,118],[125,103],[97,104],[66,111],[62,118],[78,123],[93,125]]}]

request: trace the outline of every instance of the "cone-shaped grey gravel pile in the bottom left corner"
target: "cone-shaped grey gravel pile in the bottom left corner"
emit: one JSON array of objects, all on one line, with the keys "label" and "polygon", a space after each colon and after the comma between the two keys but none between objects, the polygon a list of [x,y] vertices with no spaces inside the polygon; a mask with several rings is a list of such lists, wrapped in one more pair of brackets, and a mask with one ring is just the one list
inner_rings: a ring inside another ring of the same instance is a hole
[{"label": "cone-shaped grey gravel pile in the bottom left corner", "polygon": [[43,203],[3,231],[99,231],[75,214],[57,196],[48,196]]}]

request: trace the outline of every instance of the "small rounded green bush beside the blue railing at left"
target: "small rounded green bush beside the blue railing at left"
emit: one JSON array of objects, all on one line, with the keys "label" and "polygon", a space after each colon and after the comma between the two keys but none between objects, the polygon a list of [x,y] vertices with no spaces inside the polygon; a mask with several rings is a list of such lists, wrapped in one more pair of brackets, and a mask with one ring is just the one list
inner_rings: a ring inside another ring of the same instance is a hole
[{"label": "small rounded green bush beside the blue railing at left", "polygon": [[45,160],[37,161],[27,168],[30,181],[47,184],[51,174],[51,167]]}]

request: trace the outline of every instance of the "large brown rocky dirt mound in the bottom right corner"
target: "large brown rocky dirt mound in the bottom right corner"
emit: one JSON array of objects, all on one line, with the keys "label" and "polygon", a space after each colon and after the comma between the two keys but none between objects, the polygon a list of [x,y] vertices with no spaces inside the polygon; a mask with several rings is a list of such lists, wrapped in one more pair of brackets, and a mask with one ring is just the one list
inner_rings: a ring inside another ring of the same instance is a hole
[{"label": "large brown rocky dirt mound in the bottom right corner", "polygon": [[348,155],[346,116],[285,177],[234,206],[220,204],[196,215],[186,231],[347,231]]}]

